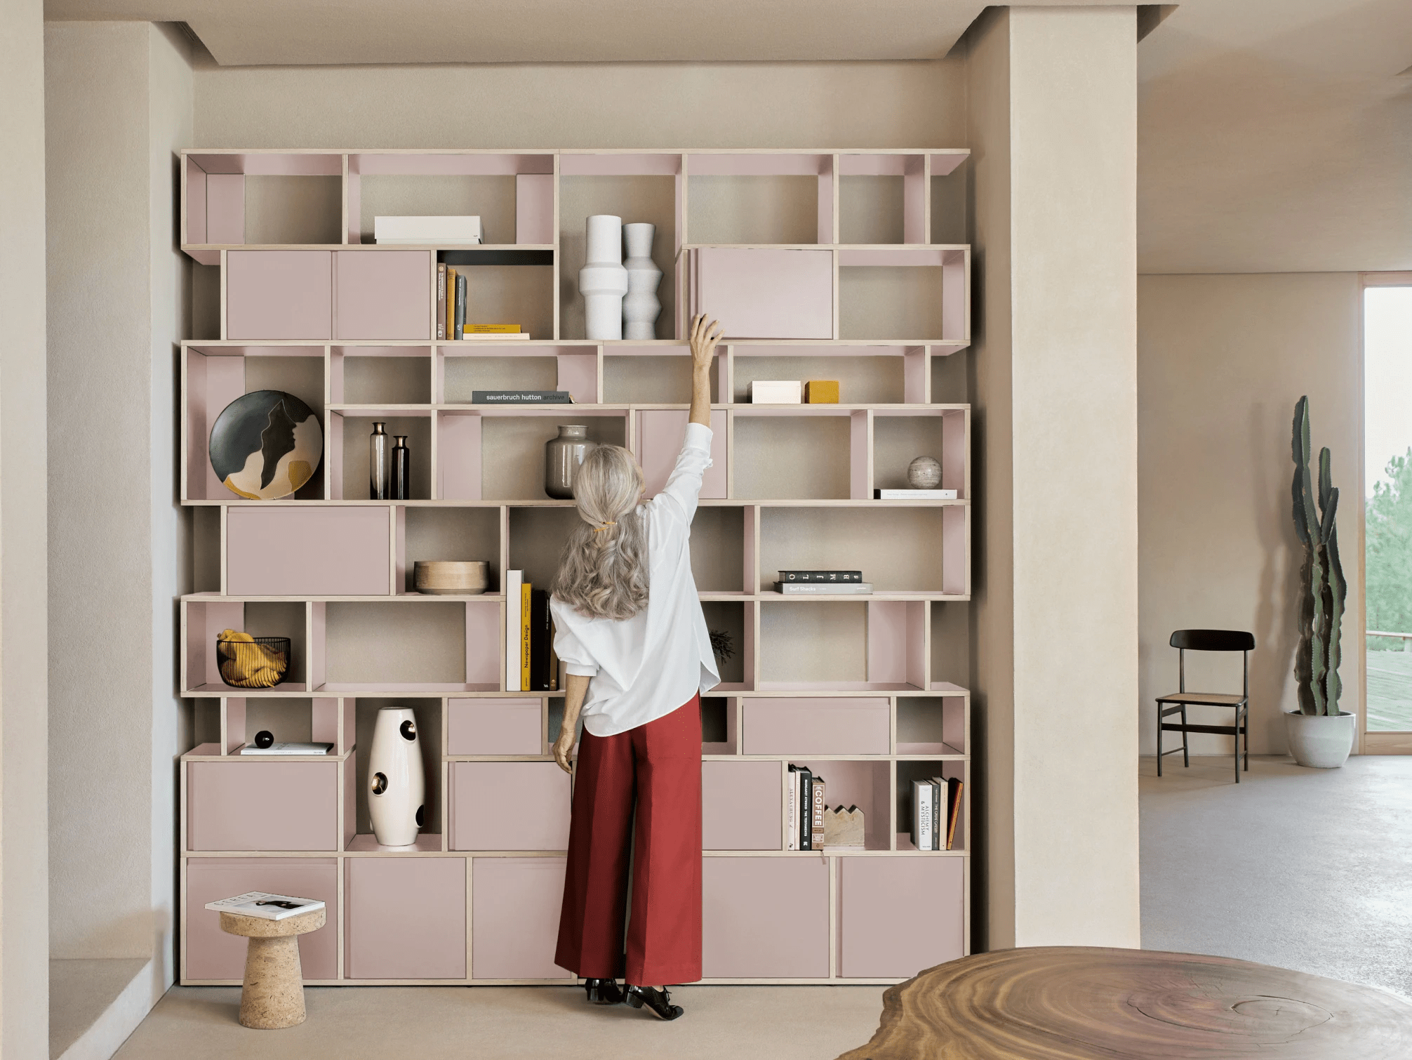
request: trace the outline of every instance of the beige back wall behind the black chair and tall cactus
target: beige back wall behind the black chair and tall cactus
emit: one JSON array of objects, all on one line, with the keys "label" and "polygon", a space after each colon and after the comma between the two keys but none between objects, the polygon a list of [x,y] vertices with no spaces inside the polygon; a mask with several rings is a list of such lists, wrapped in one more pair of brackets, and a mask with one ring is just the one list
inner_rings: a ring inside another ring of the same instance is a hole
[{"label": "beige back wall behind the black chair and tall cactus", "polygon": [[[1138,291],[1142,752],[1156,750],[1154,697],[1176,688],[1168,637],[1209,626],[1255,635],[1250,749],[1279,755],[1279,715],[1295,708],[1300,548],[1289,444],[1300,394],[1309,394],[1313,447],[1333,449],[1334,485],[1344,490],[1344,709],[1361,698],[1358,276],[1144,276]],[[1233,660],[1193,656],[1187,673],[1189,684],[1240,684]],[[1230,724],[1230,711],[1196,714],[1192,721]],[[1231,738],[1197,735],[1190,743],[1197,753],[1226,755]]]}]

